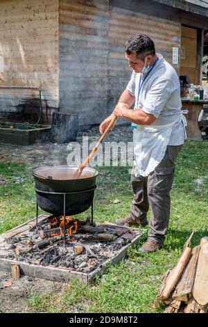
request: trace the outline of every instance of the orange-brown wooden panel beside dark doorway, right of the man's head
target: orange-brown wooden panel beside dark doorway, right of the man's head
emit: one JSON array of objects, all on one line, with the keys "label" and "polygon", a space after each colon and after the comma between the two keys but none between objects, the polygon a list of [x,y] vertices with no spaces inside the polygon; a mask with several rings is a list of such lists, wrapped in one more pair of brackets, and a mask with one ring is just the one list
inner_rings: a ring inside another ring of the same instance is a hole
[{"label": "orange-brown wooden panel beside dark doorway, right of the man's head", "polygon": [[197,29],[182,26],[181,45],[185,58],[181,58],[180,75],[188,75],[191,83],[196,83]]}]

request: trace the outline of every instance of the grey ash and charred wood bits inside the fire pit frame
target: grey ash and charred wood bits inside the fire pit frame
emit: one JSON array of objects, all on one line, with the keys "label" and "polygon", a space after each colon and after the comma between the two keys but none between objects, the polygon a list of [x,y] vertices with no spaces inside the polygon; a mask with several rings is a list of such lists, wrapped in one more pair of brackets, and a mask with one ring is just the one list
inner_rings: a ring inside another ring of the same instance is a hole
[{"label": "grey ash and charred wood bits inside the fire pit frame", "polygon": [[51,244],[38,248],[43,241],[41,231],[48,230],[49,223],[50,217],[44,218],[37,226],[32,228],[29,226],[28,230],[6,239],[1,244],[0,257],[39,266],[60,267],[69,271],[90,273],[118,255],[121,249],[131,243],[131,240],[138,234],[136,229],[96,223],[95,230],[103,228],[105,230],[103,234],[111,236],[112,241],[96,240],[98,233],[94,233],[93,240],[88,240],[89,233],[78,232],[67,238],[65,245],[62,237],[48,237],[44,241],[50,240]]}]

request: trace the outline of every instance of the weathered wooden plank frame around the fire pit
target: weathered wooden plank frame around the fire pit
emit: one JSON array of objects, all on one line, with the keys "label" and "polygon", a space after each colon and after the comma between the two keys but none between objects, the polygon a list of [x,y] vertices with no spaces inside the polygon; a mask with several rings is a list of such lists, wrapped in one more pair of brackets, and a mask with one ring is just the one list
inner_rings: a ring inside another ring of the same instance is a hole
[{"label": "weathered wooden plank frame around the fire pit", "polygon": [[[47,215],[38,216],[38,221],[42,221],[47,218]],[[10,237],[14,237],[15,235],[25,232],[28,228],[33,228],[36,223],[36,218],[33,218],[31,221],[27,223],[23,223],[12,230],[0,235],[0,244],[3,243],[6,239],[10,239]],[[112,225],[113,226],[113,225]],[[114,225],[116,226],[116,225]],[[118,227],[118,226],[117,226]],[[121,248],[119,253],[110,259],[107,259],[101,266],[92,271],[91,273],[83,273],[80,271],[71,271],[68,268],[56,268],[51,266],[40,266],[36,264],[28,264],[27,262],[21,262],[17,260],[9,260],[6,258],[0,258],[0,270],[6,271],[8,273],[11,272],[11,264],[18,264],[21,275],[43,278],[47,280],[53,280],[57,282],[70,282],[73,278],[80,280],[84,284],[93,284],[96,277],[103,275],[107,270],[109,265],[117,264],[119,261],[126,256],[127,250],[129,246],[136,245],[139,243],[139,239],[141,235],[144,233],[144,230],[140,228],[128,228],[128,230],[136,230],[138,231],[137,237],[132,239],[131,243]],[[126,234],[126,233],[125,233]],[[124,235],[124,234],[123,234]],[[123,236],[122,235],[122,236]]]}]

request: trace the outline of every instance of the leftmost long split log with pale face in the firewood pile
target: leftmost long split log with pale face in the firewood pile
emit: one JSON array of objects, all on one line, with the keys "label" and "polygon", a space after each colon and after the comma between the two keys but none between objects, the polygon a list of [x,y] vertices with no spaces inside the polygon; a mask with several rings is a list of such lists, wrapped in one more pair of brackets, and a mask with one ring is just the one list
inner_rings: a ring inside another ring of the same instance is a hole
[{"label": "leftmost long split log with pale face in the firewood pile", "polygon": [[182,272],[184,271],[184,267],[186,266],[187,262],[189,261],[189,257],[191,255],[191,248],[185,248],[184,252],[182,253],[182,256],[178,260],[175,269],[171,271],[169,274],[166,285],[162,291],[162,294],[159,296],[163,300],[166,300],[168,296],[173,291],[173,288],[175,287],[177,280],[182,275]]}]

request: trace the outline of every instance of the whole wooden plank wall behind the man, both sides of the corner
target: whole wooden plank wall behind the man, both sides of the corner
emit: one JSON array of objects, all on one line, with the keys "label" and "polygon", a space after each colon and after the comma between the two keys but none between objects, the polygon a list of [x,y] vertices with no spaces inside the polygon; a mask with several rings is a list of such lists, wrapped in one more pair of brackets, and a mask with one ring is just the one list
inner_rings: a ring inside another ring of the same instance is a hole
[{"label": "whole wooden plank wall behind the man, both sides of the corner", "polygon": [[[111,3],[1,1],[0,86],[41,86],[49,110],[60,106],[60,111],[80,113],[82,127],[100,123],[130,78],[124,57],[130,35],[150,35],[170,63],[172,47],[179,47],[180,53],[179,22],[139,13],[139,1],[136,10]],[[180,63],[175,65],[177,72],[179,67]],[[0,90],[0,118],[5,112],[24,113],[22,99],[28,102],[36,97],[28,91],[22,97],[17,91],[11,94],[3,97]]]}]

